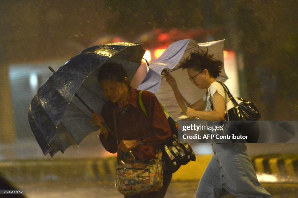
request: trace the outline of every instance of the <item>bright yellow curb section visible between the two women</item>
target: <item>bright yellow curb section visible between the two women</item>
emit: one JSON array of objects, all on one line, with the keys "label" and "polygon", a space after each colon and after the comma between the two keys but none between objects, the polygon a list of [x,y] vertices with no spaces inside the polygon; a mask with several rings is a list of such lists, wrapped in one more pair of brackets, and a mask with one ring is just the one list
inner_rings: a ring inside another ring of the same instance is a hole
[{"label": "bright yellow curb section visible between the two women", "polygon": [[200,180],[212,156],[196,156],[195,161],[182,165],[177,172],[173,173],[172,181]]}]

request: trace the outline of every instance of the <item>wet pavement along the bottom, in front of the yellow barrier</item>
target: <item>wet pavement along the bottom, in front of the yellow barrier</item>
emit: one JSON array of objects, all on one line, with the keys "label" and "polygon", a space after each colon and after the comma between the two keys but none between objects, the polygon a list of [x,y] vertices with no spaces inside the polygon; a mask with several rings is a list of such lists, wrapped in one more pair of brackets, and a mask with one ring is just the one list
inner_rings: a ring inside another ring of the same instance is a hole
[{"label": "wet pavement along the bottom, in front of the yellow barrier", "polygon": [[[195,197],[198,181],[176,181],[168,188],[166,198],[193,198]],[[262,183],[263,187],[275,198],[297,198],[298,183]],[[68,182],[68,183],[27,183],[19,184],[19,189],[26,192],[28,198],[118,198],[124,197],[114,187],[113,182]],[[226,195],[224,198],[232,198]]]}]

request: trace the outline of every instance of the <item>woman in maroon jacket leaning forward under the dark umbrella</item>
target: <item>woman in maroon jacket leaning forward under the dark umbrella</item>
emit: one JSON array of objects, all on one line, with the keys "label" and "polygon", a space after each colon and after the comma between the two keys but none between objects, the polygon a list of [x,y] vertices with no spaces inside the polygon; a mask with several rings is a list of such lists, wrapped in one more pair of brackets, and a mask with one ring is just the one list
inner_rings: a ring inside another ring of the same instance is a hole
[{"label": "woman in maroon jacket leaning forward under the dark umbrella", "polygon": [[[171,136],[169,123],[156,96],[149,91],[142,93],[146,117],[138,102],[139,90],[130,87],[121,64],[110,62],[102,65],[97,77],[108,101],[103,105],[101,116],[94,113],[92,118],[94,124],[100,127],[100,141],[104,148],[111,153],[117,152],[118,161],[129,161],[128,151],[132,151],[138,161],[155,158],[156,149]],[[122,141],[117,142],[102,122]],[[165,166],[163,170],[162,189],[124,197],[164,197],[172,173]]]}]

